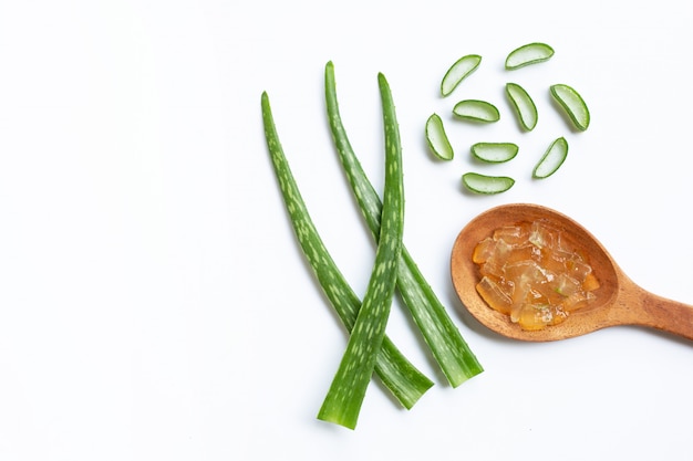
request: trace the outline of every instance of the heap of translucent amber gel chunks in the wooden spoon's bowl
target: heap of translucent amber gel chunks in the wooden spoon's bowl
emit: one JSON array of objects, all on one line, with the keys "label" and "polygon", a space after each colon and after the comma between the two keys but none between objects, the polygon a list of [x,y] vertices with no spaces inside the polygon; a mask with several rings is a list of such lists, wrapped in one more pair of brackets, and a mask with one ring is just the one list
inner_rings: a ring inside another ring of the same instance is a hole
[{"label": "heap of translucent amber gel chunks in the wooden spoon's bowl", "polygon": [[542,221],[496,229],[474,249],[479,295],[523,329],[556,325],[587,305],[599,280],[579,249]]}]

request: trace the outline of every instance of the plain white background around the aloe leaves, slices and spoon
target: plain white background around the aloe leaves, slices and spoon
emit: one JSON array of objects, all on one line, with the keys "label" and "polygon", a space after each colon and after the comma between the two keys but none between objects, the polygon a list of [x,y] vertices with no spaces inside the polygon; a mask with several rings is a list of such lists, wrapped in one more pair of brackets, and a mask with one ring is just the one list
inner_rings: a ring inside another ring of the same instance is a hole
[{"label": "plain white background around the aloe leaves, slices and spoon", "polygon": [[[686,460],[693,345],[637,327],[551,344],[500,338],[456,298],[464,224],[530,201],[582,222],[643,287],[693,303],[691,23],[685,2],[0,1],[0,459]],[[506,54],[554,59],[515,73]],[[449,98],[459,56],[479,70]],[[411,411],[377,385],[355,431],[316,420],[345,344],[301,256],[267,155],[267,91],[316,226],[362,294],[374,248],[324,117],[324,64],[382,186],[377,72],[404,146],[405,242],[486,371],[447,386],[404,314],[389,334],[436,385]],[[503,94],[525,85],[530,134]],[[592,124],[548,96],[567,83]],[[489,127],[453,122],[485,98]],[[435,161],[438,112],[456,148]],[[569,157],[530,172],[548,143]],[[518,157],[484,167],[479,140]],[[516,178],[462,190],[468,170]]]}]

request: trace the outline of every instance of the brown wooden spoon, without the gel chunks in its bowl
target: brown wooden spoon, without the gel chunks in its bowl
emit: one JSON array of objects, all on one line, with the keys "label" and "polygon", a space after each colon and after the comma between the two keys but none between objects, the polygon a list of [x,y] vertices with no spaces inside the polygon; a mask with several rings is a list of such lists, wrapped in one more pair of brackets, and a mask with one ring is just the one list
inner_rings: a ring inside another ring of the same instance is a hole
[{"label": "brown wooden spoon, without the gel chunks in its bowl", "polygon": [[[600,287],[589,306],[572,312],[557,325],[540,331],[524,331],[508,315],[490,308],[476,291],[477,265],[472,261],[474,247],[504,226],[521,221],[548,221],[576,248],[589,254]],[[654,295],[633,283],[617,265],[607,250],[572,219],[537,205],[505,205],[483,212],[457,235],[453,247],[451,271],[462,303],[482,324],[515,339],[546,342],[580,336],[608,326],[642,325],[693,339],[693,306]]]}]

